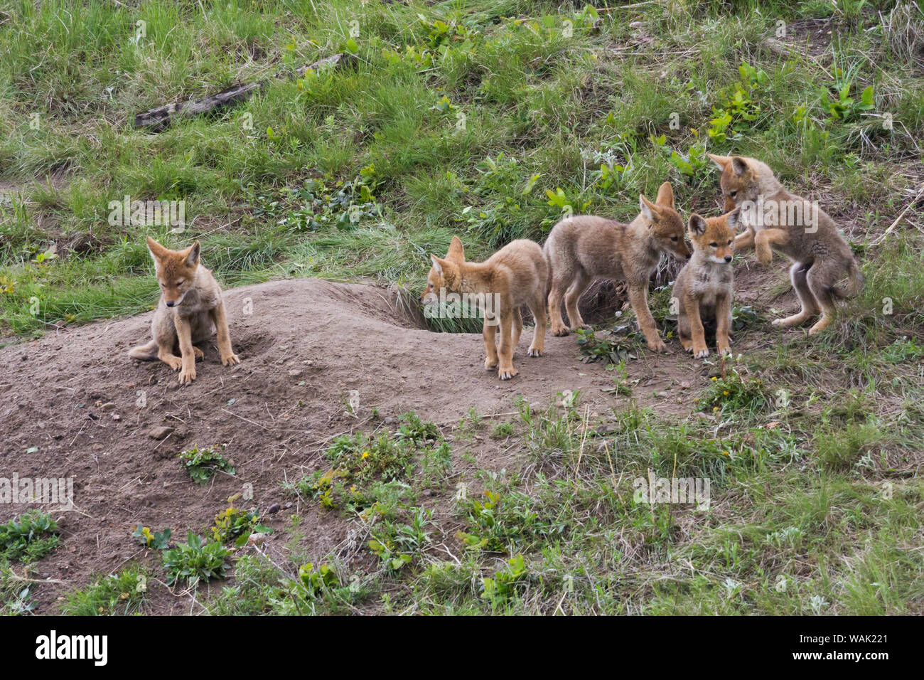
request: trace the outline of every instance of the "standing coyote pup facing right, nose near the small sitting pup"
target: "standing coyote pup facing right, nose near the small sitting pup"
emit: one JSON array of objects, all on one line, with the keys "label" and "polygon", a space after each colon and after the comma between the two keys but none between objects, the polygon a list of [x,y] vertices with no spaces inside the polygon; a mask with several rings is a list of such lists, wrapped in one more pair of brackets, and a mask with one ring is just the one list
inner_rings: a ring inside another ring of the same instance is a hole
[{"label": "standing coyote pup facing right, nose near the small sitting pup", "polygon": [[684,241],[684,221],[674,209],[674,192],[664,182],[651,203],[638,196],[641,213],[630,224],[592,215],[566,217],[552,228],[543,250],[552,268],[549,318],[554,335],[567,335],[562,320],[562,297],[571,329],[584,324],[577,301],[594,278],[626,279],[629,302],[649,349],[666,352],[648,308],[648,281],[661,260],[671,253],[678,260],[689,259]]}]

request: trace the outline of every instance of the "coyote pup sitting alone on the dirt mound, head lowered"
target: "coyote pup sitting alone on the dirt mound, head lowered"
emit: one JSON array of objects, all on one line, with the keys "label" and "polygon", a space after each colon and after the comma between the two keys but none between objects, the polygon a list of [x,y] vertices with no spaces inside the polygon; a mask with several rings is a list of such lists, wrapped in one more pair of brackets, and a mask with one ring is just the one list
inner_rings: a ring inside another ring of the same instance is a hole
[{"label": "coyote pup sitting alone on the dirt mound, head lowered", "polygon": [[[184,251],[171,251],[149,236],[148,250],[161,285],[161,300],[151,322],[153,340],[128,356],[141,361],[160,359],[175,371],[182,369],[179,382],[185,385],[196,379],[196,359],[202,356],[193,343],[208,340],[217,328],[222,364],[239,364],[231,351],[222,289],[212,272],[199,264],[199,241]],[[173,353],[177,343],[182,358]]]}]

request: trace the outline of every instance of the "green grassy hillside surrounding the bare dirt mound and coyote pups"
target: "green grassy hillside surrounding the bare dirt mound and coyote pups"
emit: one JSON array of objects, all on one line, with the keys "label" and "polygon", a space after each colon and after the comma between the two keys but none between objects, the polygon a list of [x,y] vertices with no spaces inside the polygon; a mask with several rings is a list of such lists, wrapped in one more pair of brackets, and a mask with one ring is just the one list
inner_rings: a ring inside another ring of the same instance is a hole
[{"label": "green grassy hillside surrounding the bare dirt mound and coyote pups", "polygon": [[[542,241],[569,209],[627,220],[664,179],[682,215],[717,215],[706,154],[752,155],[818,199],[861,260],[865,290],[828,332],[767,325],[766,349],[716,375],[697,413],[620,407],[592,447],[579,404],[520,408],[499,431],[459,414],[458,453],[483,430],[529,457],[485,472],[491,495],[457,501],[452,526],[474,537],[461,559],[435,550],[428,537],[455,532],[427,529],[418,496],[377,488],[377,531],[410,565],[383,558],[352,590],[342,570],[337,587],[309,578],[298,598],[320,611],[922,612],[920,203],[881,237],[924,182],[924,14],[895,5],[12,0],[0,333],[151,309],[145,234],[199,239],[226,286],[371,278],[414,292],[454,234],[479,259]],[[297,76],[344,52],[357,57],[345,68]],[[132,126],[258,80],[218,116]],[[125,195],[185,201],[185,230],[111,226]],[[661,320],[667,295],[653,299]],[[617,492],[650,468],[710,476],[711,511]],[[274,565],[239,568],[220,611],[287,611]]]}]

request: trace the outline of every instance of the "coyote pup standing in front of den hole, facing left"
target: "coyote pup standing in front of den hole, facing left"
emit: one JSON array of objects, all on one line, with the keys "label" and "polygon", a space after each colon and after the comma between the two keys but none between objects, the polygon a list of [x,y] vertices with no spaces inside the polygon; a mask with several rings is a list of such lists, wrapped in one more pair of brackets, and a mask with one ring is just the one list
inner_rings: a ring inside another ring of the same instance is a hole
[{"label": "coyote pup standing in front of den hole, facing left", "polygon": [[[484,349],[488,358],[484,367],[497,366],[502,380],[517,375],[514,368],[514,350],[523,331],[520,307],[529,306],[536,328],[529,345],[529,356],[541,356],[545,347],[545,284],[549,266],[538,243],[521,239],[505,245],[485,262],[466,262],[462,241],[453,237],[445,258],[430,256],[432,268],[427,277],[427,290],[420,296],[426,301],[441,289],[472,295],[487,301],[492,309],[484,311]],[[501,346],[495,346],[496,328],[500,318]]]}]

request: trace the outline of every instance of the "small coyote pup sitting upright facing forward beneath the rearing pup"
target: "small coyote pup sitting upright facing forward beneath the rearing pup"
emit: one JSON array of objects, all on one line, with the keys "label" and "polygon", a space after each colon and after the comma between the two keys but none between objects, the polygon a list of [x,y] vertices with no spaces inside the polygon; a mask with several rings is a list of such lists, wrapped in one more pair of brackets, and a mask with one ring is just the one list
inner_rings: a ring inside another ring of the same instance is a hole
[{"label": "small coyote pup sitting upright facing forward beneath the rearing pup", "polygon": [[687,352],[697,359],[709,356],[703,319],[715,319],[715,344],[719,355],[731,352],[728,328],[732,319],[732,293],[735,285],[732,253],[739,209],[721,217],[703,219],[690,216],[693,257],[680,270],[674,282],[678,303],[677,336]]}]

